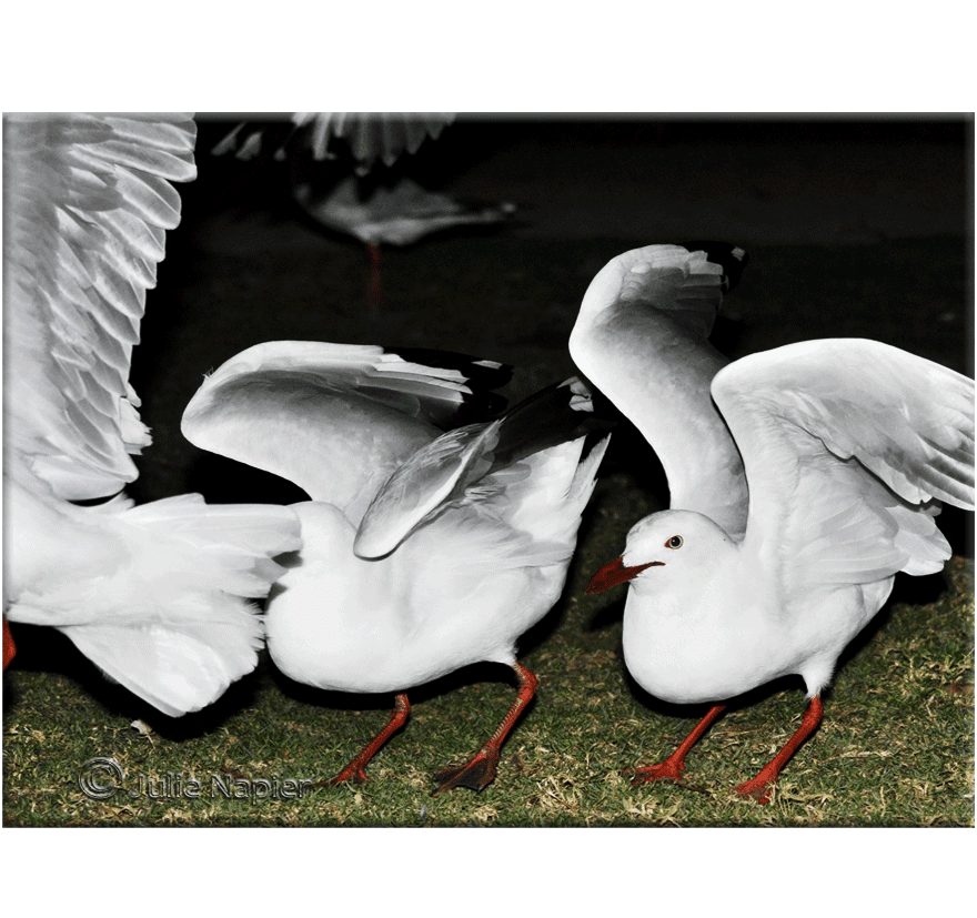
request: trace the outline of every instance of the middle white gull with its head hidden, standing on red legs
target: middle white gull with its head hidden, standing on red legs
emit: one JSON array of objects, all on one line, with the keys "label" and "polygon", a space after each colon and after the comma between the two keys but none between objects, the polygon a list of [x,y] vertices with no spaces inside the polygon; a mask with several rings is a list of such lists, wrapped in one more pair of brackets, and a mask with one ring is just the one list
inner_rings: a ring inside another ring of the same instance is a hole
[{"label": "middle white gull with its head hidden, standing on red legs", "polygon": [[[532,700],[518,636],[560,596],[607,445],[576,379],[494,421],[454,426],[507,369],[375,345],[268,342],[232,357],[190,401],[203,450],[289,478],[303,548],[268,605],[268,648],[296,682],[394,693],[389,724],[325,785],[360,784],[410,713],[407,692],[469,664],[501,663],[515,703],[443,790],[486,787]],[[445,430],[447,428],[447,430]]]}]

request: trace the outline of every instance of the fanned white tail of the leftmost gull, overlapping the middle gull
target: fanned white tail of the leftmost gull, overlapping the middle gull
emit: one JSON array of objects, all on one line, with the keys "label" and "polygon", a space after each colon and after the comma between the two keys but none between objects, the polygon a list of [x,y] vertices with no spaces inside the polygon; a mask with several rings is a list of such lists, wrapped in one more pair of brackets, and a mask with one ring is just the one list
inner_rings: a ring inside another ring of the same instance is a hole
[{"label": "fanned white tail of the leftmost gull, overlapping the middle gull", "polygon": [[149,539],[129,568],[139,605],[62,631],[163,713],[199,710],[258,665],[264,625],[244,597],[268,595],[284,572],[272,557],[301,546],[298,517],[289,507],[208,505],[183,494],[124,511],[119,522]]}]

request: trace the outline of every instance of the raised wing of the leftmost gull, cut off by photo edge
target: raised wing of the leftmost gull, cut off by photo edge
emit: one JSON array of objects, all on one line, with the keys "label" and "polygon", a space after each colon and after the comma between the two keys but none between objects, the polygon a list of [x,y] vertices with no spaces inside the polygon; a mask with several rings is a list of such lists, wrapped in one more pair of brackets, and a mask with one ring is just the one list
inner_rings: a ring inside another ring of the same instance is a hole
[{"label": "raised wing of the leftmost gull, cut off by photo edge", "polygon": [[137,476],[129,385],[171,182],[197,174],[191,112],[3,115],[3,407],[19,462],[66,500]]}]

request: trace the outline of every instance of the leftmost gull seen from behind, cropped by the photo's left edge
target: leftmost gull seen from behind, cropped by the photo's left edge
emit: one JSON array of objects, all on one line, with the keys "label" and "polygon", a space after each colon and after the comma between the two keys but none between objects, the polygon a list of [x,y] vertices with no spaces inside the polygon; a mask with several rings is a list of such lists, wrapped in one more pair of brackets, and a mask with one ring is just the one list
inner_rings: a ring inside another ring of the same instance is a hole
[{"label": "leftmost gull seen from behind, cropped by the photo's left edge", "polygon": [[150,445],[129,383],[191,112],[3,115],[3,666],[7,624],[63,632],[170,716],[258,664],[258,607],[299,547],[286,507],[122,493]]}]

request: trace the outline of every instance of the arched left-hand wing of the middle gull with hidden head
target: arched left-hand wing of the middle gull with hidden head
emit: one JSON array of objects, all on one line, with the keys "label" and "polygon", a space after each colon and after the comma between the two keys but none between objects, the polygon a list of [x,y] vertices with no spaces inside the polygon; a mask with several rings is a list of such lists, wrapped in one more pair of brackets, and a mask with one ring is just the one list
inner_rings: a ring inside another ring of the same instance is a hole
[{"label": "arched left-hand wing of the middle gull with hidden head", "polygon": [[204,380],[183,412],[183,435],[294,482],[357,523],[394,468],[479,399],[470,381],[507,377],[491,361],[469,360],[467,369],[446,355],[445,364],[376,345],[259,344]]}]

